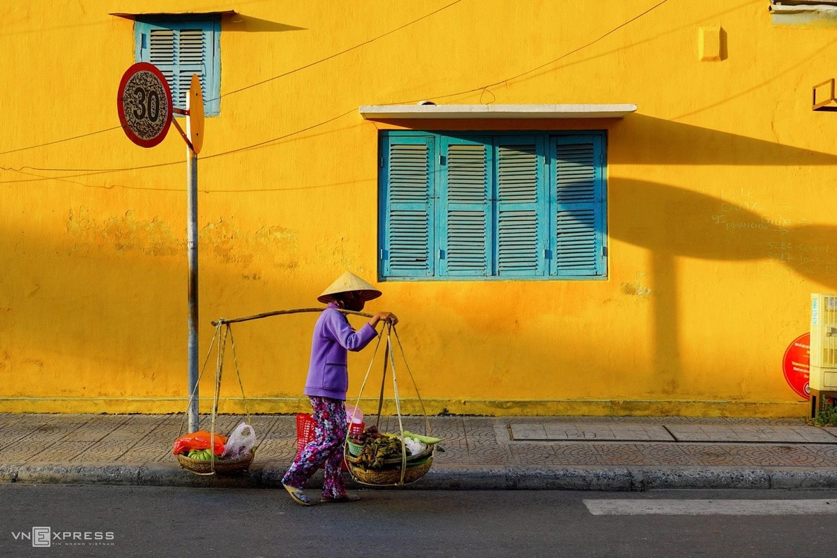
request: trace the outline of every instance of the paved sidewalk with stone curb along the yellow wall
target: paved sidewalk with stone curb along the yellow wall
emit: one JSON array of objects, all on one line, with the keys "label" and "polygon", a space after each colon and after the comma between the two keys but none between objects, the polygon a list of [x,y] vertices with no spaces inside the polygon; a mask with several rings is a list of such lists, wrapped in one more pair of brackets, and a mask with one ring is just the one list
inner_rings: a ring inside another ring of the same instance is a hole
[{"label": "paved sidewalk with stone curb along the yellow wall", "polygon": [[[241,420],[218,417],[216,429],[229,433]],[[444,453],[437,451],[429,473],[409,489],[837,488],[837,428],[798,419],[428,420],[444,438]],[[259,449],[248,471],[193,474],[171,451],[186,432],[182,422],[182,414],[0,414],[0,482],[276,488],[295,455],[295,417],[258,415]],[[423,418],[403,422],[423,431]],[[209,424],[201,418],[202,428]],[[397,419],[384,417],[380,429],[397,432]]]}]

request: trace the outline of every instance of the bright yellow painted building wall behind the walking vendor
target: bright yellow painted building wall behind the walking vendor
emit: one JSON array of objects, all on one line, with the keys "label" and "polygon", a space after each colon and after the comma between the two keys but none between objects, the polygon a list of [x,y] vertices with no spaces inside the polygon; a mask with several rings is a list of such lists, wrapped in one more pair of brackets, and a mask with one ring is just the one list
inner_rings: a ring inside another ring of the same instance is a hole
[{"label": "bright yellow painted building wall behind the walking vendor", "polygon": [[[607,280],[388,281],[367,310],[399,315],[429,413],[804,415],[781,363],[809,293],[837,290],[837,115],[810,108],[837,32],[776,26],[767,0],[658,4],[3,3],[0,412],[186,407],[185,147],[119,130],[133,23],[108,15],[176,6],[239,13],[199,162],[202,360],[210,320],[316,305],[346,270],[376,282],[377,133],[408,123],[358,106],[635,103],[422,124],[607,130]],[[701,61],[718,26],[722,59]],[[234,325],[251,412],[306,409],[315,317]],[[350,397],[371,356],[351,356]]]}]

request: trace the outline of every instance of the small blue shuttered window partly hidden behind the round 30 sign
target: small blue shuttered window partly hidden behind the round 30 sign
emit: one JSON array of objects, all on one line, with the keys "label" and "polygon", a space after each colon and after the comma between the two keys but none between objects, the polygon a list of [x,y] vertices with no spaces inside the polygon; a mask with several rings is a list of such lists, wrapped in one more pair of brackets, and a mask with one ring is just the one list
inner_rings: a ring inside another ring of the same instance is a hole
[{"label": "small blue shuttered window partly hidden behind the round 30 sign", "polygon": [[201,80],[206,115],[220,112],[220,20],[137,21],[136,61],[150,62],[166,76],[172,102],[186,108],[192,75]]}]

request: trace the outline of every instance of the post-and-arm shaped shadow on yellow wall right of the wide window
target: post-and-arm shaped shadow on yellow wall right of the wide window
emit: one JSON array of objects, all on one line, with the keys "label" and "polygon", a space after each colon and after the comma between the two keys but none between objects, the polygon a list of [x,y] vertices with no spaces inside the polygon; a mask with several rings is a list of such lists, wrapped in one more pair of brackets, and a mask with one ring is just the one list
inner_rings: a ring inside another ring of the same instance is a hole
[{"label": "post-and-arm shaped shadow on yellow wall right of the wide window", "polygon": [[642,208],[644,218],[623,213],[611,221],[609,233],[650,250],[655,293],[654,369],[660,390],[666,394],[677,392],[682,375],[678,257],[758,261],[764,275],[773,275],[776,267],[783,267],[837,291],[837,226],[794,223],[655,182],[614,178],[608,197],[614,207],[630,203]]}]

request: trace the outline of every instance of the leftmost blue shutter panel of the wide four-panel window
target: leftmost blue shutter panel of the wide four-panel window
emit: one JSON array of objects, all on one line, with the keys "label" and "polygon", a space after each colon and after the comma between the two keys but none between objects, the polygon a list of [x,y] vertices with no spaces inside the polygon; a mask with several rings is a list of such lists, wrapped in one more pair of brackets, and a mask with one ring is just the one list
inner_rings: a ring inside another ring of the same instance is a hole
[{"label": "leftmost blue shutter panel of the wide four-panel window", "polygon": [[383,136],[380,185],[383,277],[434,273],[432,136]]}]

